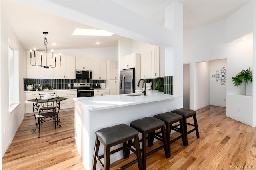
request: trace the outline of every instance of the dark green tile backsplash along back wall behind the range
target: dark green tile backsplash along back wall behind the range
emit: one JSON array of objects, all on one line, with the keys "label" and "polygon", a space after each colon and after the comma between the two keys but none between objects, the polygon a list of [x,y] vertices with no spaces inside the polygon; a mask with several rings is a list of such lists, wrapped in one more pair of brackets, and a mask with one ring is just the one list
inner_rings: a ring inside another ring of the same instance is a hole
[{"label": "dark green tile backsplash along back wall behind the range", "polygon": [[[26,81],[33,81],[34,85],[42,86],[44,88],[54,89],[74,89],[74,83],[91,83],[91,88],[95,88],[96,84],[104,83],[104,80],[90,80],[90,79],[23,79],[24,91],[26,89]],[[68,84],[71,86],[68,87]]]}]

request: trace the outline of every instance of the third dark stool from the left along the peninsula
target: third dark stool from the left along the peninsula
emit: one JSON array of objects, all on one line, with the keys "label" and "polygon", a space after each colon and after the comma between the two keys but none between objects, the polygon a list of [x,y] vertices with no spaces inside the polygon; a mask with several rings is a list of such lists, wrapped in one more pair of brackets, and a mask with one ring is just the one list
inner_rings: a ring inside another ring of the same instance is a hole
[{"label": "third dark stool from the left along the peninsula", "polygon": [[[182,138],[183,145],[186,146],[186,136],[184,132],[184,125],[183,125],[183,117],[176,113],[172,112],[165,112],[158,115],[154,115],[157,119],[164,121],[166,127],[166,136],[167,136],[167,144],[168,144],[168,152],[171,155],[171,143],[175,142],[176,140]],[[179,122],[180,128],[176,126],[172,126],[173,123]],[[180,132],[180,136],[170,139],[171,130],[175,130],[176,132]],[[156,133],[156,135],[160,135],[160,133]]]}]

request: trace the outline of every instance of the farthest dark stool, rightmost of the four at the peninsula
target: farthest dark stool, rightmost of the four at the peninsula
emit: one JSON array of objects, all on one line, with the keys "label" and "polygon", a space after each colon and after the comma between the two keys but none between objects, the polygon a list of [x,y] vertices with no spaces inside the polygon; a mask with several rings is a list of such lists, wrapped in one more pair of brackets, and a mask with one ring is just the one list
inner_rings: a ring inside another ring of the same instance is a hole
[{"label": "farthest dark stool, rightmost of the four at the peninsula", "polygon": [[[185,136],[186,136],[186,145],[188,145],[188,134],[190,134],[191,132],[196,131],[196,137],[199,138],[199,130],[198,130],[198,125],[197,125],[197,120],[196,120],[196,111],[193,111],[191,109],[186,109],[186,108],[180,108],[180,109],[173,110],[172,113],[177,113],[177,114],[183,116],[184,131],[185,131]],[[194,124],[187,123],[187,119],[189,117],[193,117]],[[187,125],[193,126],[195,128],[188,131]]]}]

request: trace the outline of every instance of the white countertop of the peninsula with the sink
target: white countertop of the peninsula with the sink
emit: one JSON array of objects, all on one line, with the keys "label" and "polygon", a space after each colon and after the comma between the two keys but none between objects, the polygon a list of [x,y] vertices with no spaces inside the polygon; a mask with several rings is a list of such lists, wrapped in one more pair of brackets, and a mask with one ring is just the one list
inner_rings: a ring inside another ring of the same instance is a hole
[{"label": "white countertop of the peninsula with the sink", "polygon": [[129,96],[138,95],[139,93],[124,94],[124,95],[108,95],[108,96],[94,96],[94,97],[80,97],[74,98],[75,101],[86,105],[91,111],[99,111],[104,109],[112,109],[116,107],[124,107],[130,105],[138,105],[142,103],[150,103],[155,101],[162,101],[168,99],[174,99],[174,95],[166,95],[164,92],[157,90],[148,90],[147,95],[140,96]]}]

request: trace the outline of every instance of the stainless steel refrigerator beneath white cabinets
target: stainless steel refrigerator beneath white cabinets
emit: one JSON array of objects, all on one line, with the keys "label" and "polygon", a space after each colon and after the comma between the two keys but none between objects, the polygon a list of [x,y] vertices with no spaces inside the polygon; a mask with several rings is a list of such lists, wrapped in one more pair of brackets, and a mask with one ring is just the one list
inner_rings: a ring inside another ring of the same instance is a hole
[{"label": "stainless steel refrigerator beneath white cabinets", "polygon": [[119,94],[135,93],[135,69],[120,71]]}]

